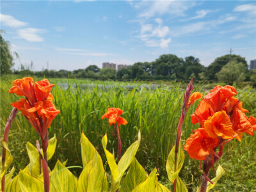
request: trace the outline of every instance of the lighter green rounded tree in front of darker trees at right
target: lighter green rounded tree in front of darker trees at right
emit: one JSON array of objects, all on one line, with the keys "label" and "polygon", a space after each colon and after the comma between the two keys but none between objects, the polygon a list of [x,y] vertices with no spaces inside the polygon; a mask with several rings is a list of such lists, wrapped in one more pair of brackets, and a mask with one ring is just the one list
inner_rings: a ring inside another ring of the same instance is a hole
[{"label": "lighter green rounded tree in front of darker trees at right", "polygon": [[227,84],[232,84],[236,82],[237,84],[244,81],[244,74],[246,72],[246,68],[244,67],[244,63],[237,61],[232,61],[231,63],[227,63],[224,67],[221,68],[220,72],[216,74],[219,81],[222,81]]}]

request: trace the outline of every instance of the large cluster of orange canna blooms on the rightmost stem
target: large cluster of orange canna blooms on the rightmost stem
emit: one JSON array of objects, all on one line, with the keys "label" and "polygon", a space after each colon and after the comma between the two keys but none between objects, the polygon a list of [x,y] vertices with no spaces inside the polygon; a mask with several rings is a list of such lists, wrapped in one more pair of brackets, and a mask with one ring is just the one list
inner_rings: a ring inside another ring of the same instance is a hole
[{"label": "large cluster of orange canna blooms on the rightmost stem", "polygon": [[[200,124],[200,128],[188,138],[184,150],[188,151],[189,157],[204,160],[204,172],[201,177],[201,184],[208,178],[209,169],[223,155],[223,148],[226,143],[236,138],[241,141],[243,132],[253,135],[256,131],[256,119],[253,116],[248,118],[243,109],[243,102],[234,97],[237,94],[233,86],[216,86],[210,93],[200,101],[193,115],[193,124]],[[218,152],[217,152],[218,151]]]}]

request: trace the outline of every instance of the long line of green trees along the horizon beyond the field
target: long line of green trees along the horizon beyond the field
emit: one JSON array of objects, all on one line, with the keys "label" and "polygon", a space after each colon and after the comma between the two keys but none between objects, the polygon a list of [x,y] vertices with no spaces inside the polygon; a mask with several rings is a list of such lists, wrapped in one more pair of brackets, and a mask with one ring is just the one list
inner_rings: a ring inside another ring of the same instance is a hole
[{"label": "long line of green trees along the horizon beyond the field", "polygon": [[20,65],[19,70],[12,71],[14,65],[13,55],[10,51],[10,44],[1,36],[1,74],[20,74],[38,77],[59,77],[59,78],[89,78],[100,80],[127,81],[133,79],[147,80],[178,80],[208,81],[209,83],[221,81],[223,83],[237,84],[243,81],[251,81],[256,85],[256,70],[248,70],[245,58],[236,54],[226,54],[216,58],[208,67],[204,67],[198,58],[188,56],[179,58],[175,54],[163,54],[152,62],[137,62],[127,68],[116,71],[113,68],[100,69],[97,65],[90,65],[73,71],[68,70],[42,70],[33,71],[33,63],[26,67]]}]

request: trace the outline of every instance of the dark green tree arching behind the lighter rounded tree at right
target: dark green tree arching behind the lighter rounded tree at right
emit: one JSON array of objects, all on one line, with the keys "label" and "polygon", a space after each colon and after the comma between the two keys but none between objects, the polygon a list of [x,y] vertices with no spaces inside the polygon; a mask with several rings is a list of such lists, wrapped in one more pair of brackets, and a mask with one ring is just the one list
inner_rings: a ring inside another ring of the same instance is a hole
[{"label": "dark green tree arching behind the lighter rounded tree at right", "polygon": [[[220,70],[223,66],[227,65],[229,60],[230,60],[230,54],[226,54],[224,56],[216,58],[211,63],[211,65],[209,65],[206,68],[205,77],[207,77],[207,79],[209,79],[209,80],[217,80],[218,77],[216,76],[216,74],[218,72],[220,72]],[[241,56],[236,55],[236,54],[232,54],[231,55],[231,61],[237,61],[238,63],[243,63],[244,67],[248,71],[248,65],[247,65],[247,62],[246,62],[245,58],[242,58]]]}]

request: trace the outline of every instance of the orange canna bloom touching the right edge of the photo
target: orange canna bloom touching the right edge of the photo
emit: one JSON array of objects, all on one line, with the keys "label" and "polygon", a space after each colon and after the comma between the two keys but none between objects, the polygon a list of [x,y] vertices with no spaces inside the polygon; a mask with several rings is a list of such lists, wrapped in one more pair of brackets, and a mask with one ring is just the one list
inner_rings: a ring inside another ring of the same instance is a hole
[{"label": "orange canna bloom touching the right edge of the photo", "polygon": [[237,140],[241,141],[243,138],[243,132],[253,135],[253,116],[248,118],[241,110],[236,109],[230,119],[233,125],[233,130],[238,134],[236,136]]}]

